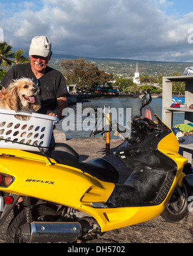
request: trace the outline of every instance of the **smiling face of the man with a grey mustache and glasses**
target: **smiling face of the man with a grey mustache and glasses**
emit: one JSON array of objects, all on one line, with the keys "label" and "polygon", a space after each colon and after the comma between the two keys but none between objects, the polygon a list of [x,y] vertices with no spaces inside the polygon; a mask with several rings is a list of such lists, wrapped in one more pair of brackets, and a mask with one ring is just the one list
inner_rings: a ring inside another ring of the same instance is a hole
[{"label": "smiling face of the man with a grey mustache and glasses", "polygon": [[50,61],[51,53],[48,54],[48,57],[42,57],[37,55],[30,55],[32,69],[39,73],[44,73]]}]

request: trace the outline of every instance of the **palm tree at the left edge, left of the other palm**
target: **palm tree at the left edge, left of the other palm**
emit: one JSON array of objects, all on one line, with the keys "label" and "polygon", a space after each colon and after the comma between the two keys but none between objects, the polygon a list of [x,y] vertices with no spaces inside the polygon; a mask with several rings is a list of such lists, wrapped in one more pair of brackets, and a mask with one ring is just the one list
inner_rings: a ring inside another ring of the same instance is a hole
[{"label": "palm tree at the left edge, left of the other palm", "polygon": [[8,45],[6,42],[0,43],[0,66],[5,65],[5,67],[8,67],[9,65],[12,65],[12,63],[15,63],[10,58],[14,58],[15,54],[12,51],[12,46]]}]

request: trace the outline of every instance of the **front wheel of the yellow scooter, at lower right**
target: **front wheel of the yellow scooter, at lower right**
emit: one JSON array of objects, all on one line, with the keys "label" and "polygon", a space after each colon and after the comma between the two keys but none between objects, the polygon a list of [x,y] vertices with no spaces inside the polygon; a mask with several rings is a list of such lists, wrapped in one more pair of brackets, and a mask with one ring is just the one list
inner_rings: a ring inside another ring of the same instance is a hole
[{"label": "front wheel of the yellow scooter, at lower right", "polygon": [[188,197],[190,189],[187,180],[183,179],[181,187],[176,187],[161,217],[168,222],[178,222],[188,215]]}]

